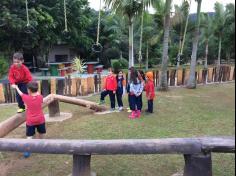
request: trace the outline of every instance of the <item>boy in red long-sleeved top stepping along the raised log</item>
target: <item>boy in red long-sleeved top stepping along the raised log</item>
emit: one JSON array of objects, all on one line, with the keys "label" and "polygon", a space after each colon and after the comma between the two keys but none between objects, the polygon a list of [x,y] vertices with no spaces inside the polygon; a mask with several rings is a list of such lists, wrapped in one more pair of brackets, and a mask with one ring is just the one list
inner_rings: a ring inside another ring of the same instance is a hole
[{"label": "boy in red long-sleeved top stepping along the raised log", "polygon": [[[32,76],[29,69],[23,64],[24,58],[22,53],[15,53],[13,55],[13,64],[9,70],[8,79],[11,85],[17,85],[21,92],[27,94],[27,83],[32,81]],[[17,113],[22,113],[25,111],[25,105],[22,101],[21,96],[16,93],[16,100],[18,102],[19,109]]]}]

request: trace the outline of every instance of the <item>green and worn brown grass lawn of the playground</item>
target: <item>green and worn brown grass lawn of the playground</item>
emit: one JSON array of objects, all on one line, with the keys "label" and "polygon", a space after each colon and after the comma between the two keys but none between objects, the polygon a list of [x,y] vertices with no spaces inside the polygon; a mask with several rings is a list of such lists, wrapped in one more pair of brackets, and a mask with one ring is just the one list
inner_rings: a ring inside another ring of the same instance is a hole
[{"label": "green and worn brown grass lawn of the playground", "polygon": [[[126,112],[94,115],[92,111],[61,104],[73,118],[47,125],[47,138],[57,139],[149,139],[235,135],[235,84],[200,86],[196,90],[175,88],[158,92],[155,114],[130,120]],[[97,101],[94,96],[90,100]],[[125,100],[126,102],[126,100]],[[146,107],[146,100],[144,100]],[[144,108],[145,108],[144,107]],[[13,115],[15,106],[0,106],[0,121]],[[20,127],[8,137],[24,137]],[[98,176],[171,176],[181,172],[181,155],[92,156]],[[213,154],[214,176],[235,175],[234,154]],[[21,153],[0,154],[1,174],[8,176],[66,176],[72,157]]]}]

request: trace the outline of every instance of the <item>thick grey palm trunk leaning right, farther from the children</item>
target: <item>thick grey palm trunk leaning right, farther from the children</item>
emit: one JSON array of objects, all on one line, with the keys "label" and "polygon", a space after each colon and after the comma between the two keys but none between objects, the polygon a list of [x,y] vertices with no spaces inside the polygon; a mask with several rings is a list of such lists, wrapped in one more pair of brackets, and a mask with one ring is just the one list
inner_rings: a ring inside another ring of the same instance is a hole
[{"label": "thick grey palm trunk leaning right, farther from the children", "polygon": [[187,83],[187,88],[195,89],[196,88],[196,64],[197,64],[197,51],[198,51],[198,40],[199,40],[199,31],[200,31],[200,15],[201,15],[201,5],[202,0],[196,0],[198,3],[197,6],[197,21],[195,26],[194,32],[194,39],[193,39],[193,49],[192,49],[192,56],[191,56],[191,67],[190,67],[190,77]]}]

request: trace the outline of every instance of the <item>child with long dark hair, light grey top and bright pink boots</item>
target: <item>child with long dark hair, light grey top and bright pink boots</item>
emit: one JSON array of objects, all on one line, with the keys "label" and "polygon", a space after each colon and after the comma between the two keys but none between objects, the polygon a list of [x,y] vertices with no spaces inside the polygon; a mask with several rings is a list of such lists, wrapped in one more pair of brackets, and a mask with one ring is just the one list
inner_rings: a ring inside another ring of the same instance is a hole
[{"label": "child with long dark hair, light grey top and bright pink boots", "polygon": [[130,74],[130,109],[132,110],[131,115],[129,118],[140,118],[141,116],[141,108],[142,108],[142,102],[141,102],[141,94],[143,92],[142,83],[138,79],[138,72],[137,71],[131,71]]}]

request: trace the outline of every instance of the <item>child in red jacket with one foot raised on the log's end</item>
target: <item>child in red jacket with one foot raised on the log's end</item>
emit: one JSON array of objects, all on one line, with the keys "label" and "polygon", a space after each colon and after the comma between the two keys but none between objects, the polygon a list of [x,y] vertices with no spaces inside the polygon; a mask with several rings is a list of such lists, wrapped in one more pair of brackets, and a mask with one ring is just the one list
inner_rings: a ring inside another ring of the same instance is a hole
[{"label": "child in red jacket with one foot raised on the log's end", "polygon": [[116,107],[116,102],[115,102],[116,89],[117,89],[116,77],[113,74],[113,70],[110,68],[108,76],[105,80],[104,90],[101,93],[100,104],[104,104],[105,97],[109,95],[111,102],[111,111],[114,111]]}]

